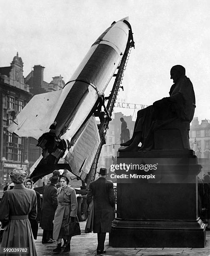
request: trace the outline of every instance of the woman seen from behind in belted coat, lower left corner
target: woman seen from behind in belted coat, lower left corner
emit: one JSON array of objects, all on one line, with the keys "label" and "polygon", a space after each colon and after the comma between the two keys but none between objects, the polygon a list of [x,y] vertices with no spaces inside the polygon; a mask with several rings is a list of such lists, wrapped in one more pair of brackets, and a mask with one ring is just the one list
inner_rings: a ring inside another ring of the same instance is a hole
[{"label": "woman seen from behind in belted coat, lower left corner", "polygon": [[[15,186],[5,191],[0,203],[0,221],[4,233],[1,247],[22,247],[28,251],[16,254],[2,253],[1,255],[29,255],[37,256],[34,238],[29,220],[35,220],[37,215],[36,193],[23,185],[28,175],[22,168],[16,168],[10,172],[10,178]],[[25,253],[25,254],[24,254]]]}]

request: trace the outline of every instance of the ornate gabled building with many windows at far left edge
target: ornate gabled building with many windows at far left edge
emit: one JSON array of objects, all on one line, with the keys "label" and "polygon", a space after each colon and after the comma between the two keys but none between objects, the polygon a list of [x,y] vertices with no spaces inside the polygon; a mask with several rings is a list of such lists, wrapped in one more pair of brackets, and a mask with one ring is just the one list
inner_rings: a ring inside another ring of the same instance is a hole
[{"label": "ornate gabled building with many windows at far left edge", "polygon": [[23,61],[17,55],[9,67],[0,67],[0,183],[9,179],[15,167],[27,170],[28,138],[19,138],[7,131],[15,116],[31,99],[29,85],[23,77]]}]

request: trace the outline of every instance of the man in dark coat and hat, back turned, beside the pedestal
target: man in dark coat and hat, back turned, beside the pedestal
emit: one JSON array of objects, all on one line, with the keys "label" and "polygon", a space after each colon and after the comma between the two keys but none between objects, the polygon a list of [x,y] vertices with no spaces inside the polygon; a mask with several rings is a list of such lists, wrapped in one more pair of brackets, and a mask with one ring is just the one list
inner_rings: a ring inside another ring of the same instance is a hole
[{"label": "man in dark coat and hat, back turned, beside the pedestal", "polygon": [[94,217],[93,233],[97,233],[97,254],[105,253],[104,242],[106,232],[111,231],[115,193],[113,183],[107,181],[107,169],[100,168],[99,178],[90,183],[86,201],[90,204],[93,198]]}]

